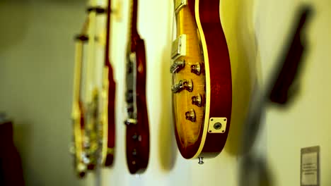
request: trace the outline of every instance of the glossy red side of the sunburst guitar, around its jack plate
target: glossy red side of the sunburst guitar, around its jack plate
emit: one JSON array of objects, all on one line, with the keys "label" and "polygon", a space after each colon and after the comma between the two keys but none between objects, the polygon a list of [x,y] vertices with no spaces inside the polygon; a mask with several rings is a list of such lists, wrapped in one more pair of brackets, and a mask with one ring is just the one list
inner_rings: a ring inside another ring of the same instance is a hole
[{"label": "glossy red side of the sunburst guitar, around its jack plate", "polygon": [[226,132],[207,133],[201,154],[201,156],[206,157],[216,156],[221,152],[226,144],[231,123],[231,63],[226,38],[219,19],[219,4],[220,1],[216,0],[199,1],[199,18],[209,56],[209,79],[211,85],[209,118],[227,118]]}]

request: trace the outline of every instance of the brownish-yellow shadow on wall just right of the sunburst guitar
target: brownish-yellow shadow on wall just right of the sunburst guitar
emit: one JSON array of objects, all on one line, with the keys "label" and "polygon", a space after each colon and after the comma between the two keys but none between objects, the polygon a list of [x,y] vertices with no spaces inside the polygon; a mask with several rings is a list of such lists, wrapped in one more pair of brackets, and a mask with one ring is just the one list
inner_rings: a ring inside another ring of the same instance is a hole
[{"label": "brownish-yellow shadow on wall just right of the sunburst guitar", "polygon": [[253,0],[227,0],[220,6],[231,60],[233,98],[230,132],[224,150],[237,156],[250,96],[253,87],[257,86],[259,54],[252,27],[254,7]]}]

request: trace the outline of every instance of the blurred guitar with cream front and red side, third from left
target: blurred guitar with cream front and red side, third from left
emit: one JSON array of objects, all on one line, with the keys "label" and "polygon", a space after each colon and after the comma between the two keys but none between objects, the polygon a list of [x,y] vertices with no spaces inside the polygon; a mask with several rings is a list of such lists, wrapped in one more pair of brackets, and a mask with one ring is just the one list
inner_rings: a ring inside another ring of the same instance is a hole
[{"label": "blurred guitar with cream front and red side, third from left", "polygon": [[108,0],[105,65],[103,67],[103,90],[101,93],[103,107],[101,113],[102,148],[101,164],[111,166],[114,159],[115,148],[115,81],[113,79],[112,66],[110,64],[110,13],[111,1]]}]

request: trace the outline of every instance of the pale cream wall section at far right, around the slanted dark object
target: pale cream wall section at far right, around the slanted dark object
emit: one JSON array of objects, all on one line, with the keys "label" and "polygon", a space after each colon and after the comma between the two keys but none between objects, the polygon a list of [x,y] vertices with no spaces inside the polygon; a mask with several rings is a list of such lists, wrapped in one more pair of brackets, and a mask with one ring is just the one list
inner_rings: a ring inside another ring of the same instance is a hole
[{"label": "pale cream wall section at far right, around the slanted dark object", "polygon": [[284,36],[293,23],[294,10],[311,4],[314,15],[307,24],[308,52],[303,60],[301,87],[294,102],[285,109],[267,111],[267,158],[276,185],[300,185],[300,150],[320,146],[320,185],[330,178],[330,1],[260,2],[256,21],[263,77],[267,77],[279,54]]}]

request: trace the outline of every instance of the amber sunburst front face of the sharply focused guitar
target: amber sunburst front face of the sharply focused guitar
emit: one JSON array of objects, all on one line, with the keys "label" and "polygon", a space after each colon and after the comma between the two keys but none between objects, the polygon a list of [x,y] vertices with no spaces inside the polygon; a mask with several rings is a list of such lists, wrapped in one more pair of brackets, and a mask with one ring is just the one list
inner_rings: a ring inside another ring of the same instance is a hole
[{"label": "amber sunburst front face of the sharply focused guitar", "polygon": [[[193,7],[193,9],[190,8]],[[206,95],[206,75],[192,73],[191,66],[204,63],[202,44],[199,44],[199,34],[194,18],[194,1],[187,1],[176,14],[178,39],[173,42],[172,63],[185,61],[185,67],[173,73],[171,91],[173,92],[173,113],[175,119],[175,134],[182,156],[191,159],[199,149],[204,127],[205,104],[192,104],[192,97],[197,94]],[[180,43],[180,44],[179,44]],[[180,47],[179,47],[180,46]],[[188,86],[190,85],[190,86]],[[199,138],[200,137],[200,138]]]}]

